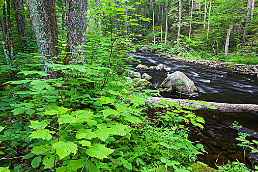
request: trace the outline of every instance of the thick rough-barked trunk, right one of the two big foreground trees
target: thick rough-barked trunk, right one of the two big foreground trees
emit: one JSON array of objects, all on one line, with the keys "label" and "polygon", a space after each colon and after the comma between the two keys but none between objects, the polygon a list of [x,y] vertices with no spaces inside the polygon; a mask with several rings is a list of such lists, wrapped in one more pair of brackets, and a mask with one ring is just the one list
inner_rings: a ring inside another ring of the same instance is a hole
[{"label": "thick rough-barked trunk, right one of the two big foreground trees", "polygon": [[[71,52],[68,57],[77,63],[78,57],[84,55],[85,52],[76,54],[82,45],[85,44],[85,2],[84,0],[70,0],[68,7],[68,27],[67,27],[67,46],[66,52]],[[82,49],[83,50],[83,47]],[[86,61],[83,59],[83,64]]]}]

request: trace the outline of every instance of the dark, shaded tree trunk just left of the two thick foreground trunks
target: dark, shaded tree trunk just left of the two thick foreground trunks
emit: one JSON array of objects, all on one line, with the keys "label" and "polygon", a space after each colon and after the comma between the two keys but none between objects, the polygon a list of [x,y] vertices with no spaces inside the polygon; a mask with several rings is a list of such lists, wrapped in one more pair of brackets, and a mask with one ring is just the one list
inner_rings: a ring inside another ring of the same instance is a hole
[{"label": "dark, shaded tree trunk just left of the two thick foreground trunks", "polygon": [[17,24],[17,31],[21,45],[26,45],[26,38],[28,37],[25,16],[20,12],[24,11],[23,0],[13,0],[13,9],[15,10],[15,21]]}]

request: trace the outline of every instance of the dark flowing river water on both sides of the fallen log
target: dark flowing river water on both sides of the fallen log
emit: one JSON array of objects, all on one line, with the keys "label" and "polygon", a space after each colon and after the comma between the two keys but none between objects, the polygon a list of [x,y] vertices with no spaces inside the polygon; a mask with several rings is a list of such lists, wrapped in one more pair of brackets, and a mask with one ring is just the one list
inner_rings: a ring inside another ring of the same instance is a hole
[{"label": "dark flowing river water on both sides of the fallen log", "polygon": [[[164,71],[139,70],[141,74],[147,73],[152,76],[150,81],[153,86],[159,86],[167,77],[167,73],[175,71],[183,72],[190,78],[198,88],[199,96],[190,98],[203,101],[221,103],[258,104],[258,78],[251,75],[240,75],[232,72],[225,72],[221,69],[208,68],[201,65],[179,62],[173,59],[157,57],[155,55],[137,53],[133,57],[140,59],[143,65],[156,66],[164,65]],[[136,67],[137,64],[133,65]],[[178,94],[167,92],[164,97],[175,98]],[[188,98],[189,97],[182,97]],[[192,129],[190,139],[200,141],[208,151],[208,154],[199,156],[199,160],[214,167],[215,162],[223,164],[238,159],[243,162],[244,153],[235,138],[237,131],[229,128],[233,121],[239,122],[246,128],[258,131],[258,114],[249,113],[216,113],[197,111],[206,123],[204,130]],[[256,139],[257,138],[251,138]],[[253,159],[245,153],[245,161],[249,168],[253,166]]]}]

